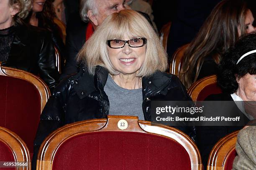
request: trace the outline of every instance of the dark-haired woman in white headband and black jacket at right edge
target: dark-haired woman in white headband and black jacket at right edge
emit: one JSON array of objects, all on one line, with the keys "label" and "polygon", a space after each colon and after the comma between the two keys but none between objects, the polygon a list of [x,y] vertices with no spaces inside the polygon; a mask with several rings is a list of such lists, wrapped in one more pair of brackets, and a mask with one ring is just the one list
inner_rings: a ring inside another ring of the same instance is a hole
[{"label": "dark-haired woman in white headband and black jacket at right edge", "polygon": [[[205,100],[234,101],[235,107],[237,106],[234,109],[242,112],[241,118],[245,123],[255,119],[256,109],[247,106],[253,103],[251,101],[256,101],[256,34],[242,36],[233,47],[230,47],[223,55],[218,69],[218,85],[223,93],[210,95]],[[236,112],[232,112],[232,115],[235,114]],[[210,150],[218,140],[242,128],[243,126],[198,127],[198,148],[204,165],[207,163]]]}]

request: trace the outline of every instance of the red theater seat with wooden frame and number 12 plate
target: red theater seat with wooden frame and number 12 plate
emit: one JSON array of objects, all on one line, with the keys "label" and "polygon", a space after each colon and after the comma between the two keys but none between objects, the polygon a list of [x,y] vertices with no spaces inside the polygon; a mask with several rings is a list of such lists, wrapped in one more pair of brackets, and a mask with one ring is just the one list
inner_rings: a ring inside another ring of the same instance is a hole
[{"label": "red theater seat with wooden frame and number 12 plate", "polygon": [[[127,128],[121,130],[123,120]],[[132,116],[59,128],[42,143],[37,163],[37,170],[202,170],[200,153],[187,135]]]}]

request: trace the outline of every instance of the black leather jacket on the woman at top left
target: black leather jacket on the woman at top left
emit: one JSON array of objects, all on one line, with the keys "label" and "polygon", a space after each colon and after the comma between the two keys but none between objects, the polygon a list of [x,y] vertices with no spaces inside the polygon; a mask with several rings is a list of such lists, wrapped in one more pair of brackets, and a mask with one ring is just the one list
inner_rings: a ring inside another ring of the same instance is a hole
[{"label": "black leather jacket on the woman at top left", "polygon": [[52,90],[57,85],[59,72],[50,33],[31,25],[15,26],[13,31],[9,57],[2,65],[40,75]]}]

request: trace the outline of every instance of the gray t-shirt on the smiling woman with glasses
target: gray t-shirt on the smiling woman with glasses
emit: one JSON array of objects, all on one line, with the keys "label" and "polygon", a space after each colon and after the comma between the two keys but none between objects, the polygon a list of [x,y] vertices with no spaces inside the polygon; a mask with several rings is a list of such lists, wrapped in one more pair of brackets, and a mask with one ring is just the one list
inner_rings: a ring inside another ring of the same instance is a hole
[{"label": "gray t-shirt on the smiling woman with glasses", "polygon": [[108,75],[104,87],[110,103],[109,115],[138,116],[144,120],[142,111],[142,89],[128,90],[118,86]]}]

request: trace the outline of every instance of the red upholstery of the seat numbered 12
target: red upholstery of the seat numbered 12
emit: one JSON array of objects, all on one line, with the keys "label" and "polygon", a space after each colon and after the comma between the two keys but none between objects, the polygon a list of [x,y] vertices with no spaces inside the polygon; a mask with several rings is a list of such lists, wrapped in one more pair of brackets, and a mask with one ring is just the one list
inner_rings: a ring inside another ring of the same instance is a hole
[{"label": "red upholstery of the seat numbered 12", "polygon": [[52,170],[191,170],[187,151],[174,140],[136,132],[77,135],[58,148]]}]

